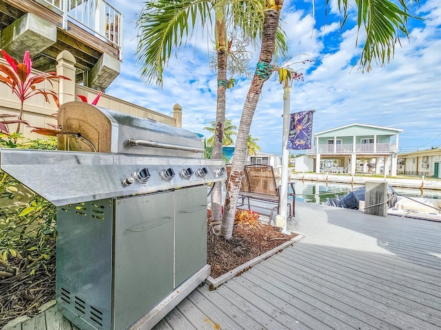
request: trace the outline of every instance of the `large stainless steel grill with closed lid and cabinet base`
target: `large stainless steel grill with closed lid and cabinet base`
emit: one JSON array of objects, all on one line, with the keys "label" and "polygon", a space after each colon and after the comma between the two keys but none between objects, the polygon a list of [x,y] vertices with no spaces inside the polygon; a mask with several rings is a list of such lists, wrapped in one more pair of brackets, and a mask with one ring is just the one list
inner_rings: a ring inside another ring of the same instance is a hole
[{"label": "large stainless steel grill with closed lid and cabinet base", "polygon": [[150,329],[209,275],[206,185],[225,164],[194,133],[83,102],[59,126],[59,151],[0,151],[57,206],[57,307],[80,329]]}]

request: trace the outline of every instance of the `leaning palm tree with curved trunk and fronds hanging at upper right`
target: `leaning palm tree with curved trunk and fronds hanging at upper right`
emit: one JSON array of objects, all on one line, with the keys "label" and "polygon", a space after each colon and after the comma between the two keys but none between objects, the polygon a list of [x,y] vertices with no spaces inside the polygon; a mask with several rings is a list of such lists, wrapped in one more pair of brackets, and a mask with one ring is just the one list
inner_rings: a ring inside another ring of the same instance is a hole
[{"label": "leaning palm tree with curved trunk and fronds hanging at upper right", "polygon": [[[329,5],[330,0],[326,0]],[[371,61],[384,65],[393,56],[394,46],[399,42],[400,34],[409,35],[407,19],[409,14],[407,1],[399,0],[360,0],[356,1],[358,8],[358,28],[365,28],[366,41],[360,56],[361,69],[369,71]],[[416,0],[419,3],[419,0]],[[342,10],[342,24],[347,20],[348,8],[352,6],[347,0],[338,0],[338,8]],[[263,39],[260,47],[260,55],[256,72],[245,99],[242,117],[238,129],[232,169],[227,184],[225,198],[225,211],[220,226],[220,234],[225,239],[232,238],[234,214],[240,189],[240,181],[243,176],[243,168],[247,157],[247,137],[252,124],[254,111],[262,92],[263,84],[269,79],[275,70],[271,65],[276,42],[276,30],[280,19],[280,11],[283,0],[265,0],[265,21],[263,27]]]}]

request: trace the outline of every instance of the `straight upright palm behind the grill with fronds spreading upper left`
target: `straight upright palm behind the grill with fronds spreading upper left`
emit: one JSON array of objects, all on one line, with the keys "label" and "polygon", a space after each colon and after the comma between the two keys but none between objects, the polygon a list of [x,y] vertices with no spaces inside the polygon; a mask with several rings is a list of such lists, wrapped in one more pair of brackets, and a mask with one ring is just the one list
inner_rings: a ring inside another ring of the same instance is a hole
[{"label": "straight upright palm behind the grill with fronds spreading upper left", "polygon": [[[221,159],[223,126],[225,122],[225,94],[230,80],[227,80],[227,54],[231,42],[227,39],[227,14],[231,14],[232,29],[240,31],[240,38],[253,41],[263,28],[263,0],[156,0],[146,1],[136,22],[139,28],[139,42],[136,49],[138,61],[142,64],[142,78],[147,83],[162,86],[163,69],[173,52],[187,42],[196,23],[212,32],[214,14],[214,37],[217,57],[217,104],[216,131],[212,157]],[[280,54],[287,52],[284,35],[277,34]],[[212,219],[221,218],[220,184],[212,191]]]}]

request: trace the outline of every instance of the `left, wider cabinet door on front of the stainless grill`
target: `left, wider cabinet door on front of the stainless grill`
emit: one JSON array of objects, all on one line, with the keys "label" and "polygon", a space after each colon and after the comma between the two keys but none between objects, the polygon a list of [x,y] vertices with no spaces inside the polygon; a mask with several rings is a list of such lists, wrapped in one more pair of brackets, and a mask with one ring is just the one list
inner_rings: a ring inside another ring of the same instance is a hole
[{"label": "left, wider cabinet door on front of the stainless grill", "polygon": [[173,291],[173,192],[115,205],[114,329],[127,329]]}]

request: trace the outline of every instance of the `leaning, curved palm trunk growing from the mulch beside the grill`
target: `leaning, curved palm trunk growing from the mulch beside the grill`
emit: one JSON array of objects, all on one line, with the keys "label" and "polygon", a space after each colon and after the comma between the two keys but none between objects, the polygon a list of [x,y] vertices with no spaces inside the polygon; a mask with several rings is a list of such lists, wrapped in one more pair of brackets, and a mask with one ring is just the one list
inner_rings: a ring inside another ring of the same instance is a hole
[{"label": "leaning, curved palm trunk growing from the mulch beside the grill", "polygon": [[233,234],[234,215],[236,214],[240,181],[242,181],[243,168],[245,167],[245,160],[247,157],[247,140],[254,111],[256,111],[257,102],[262,93],[263,83],[269,79],[272,73],[272,69],[269,65],[274,54],[276,31],[283,0],[265,1],[265,3],[270,2],[272,2],[273,7],[265,8],[265,21],[263,25],[263,39],[260,47],[259,63],[243,106],[236,146],[234,148],[232,170],[227,184],[225,210],[222,218],[222,225],[220,225],[220,235],[225,239],[231,239]]}]

